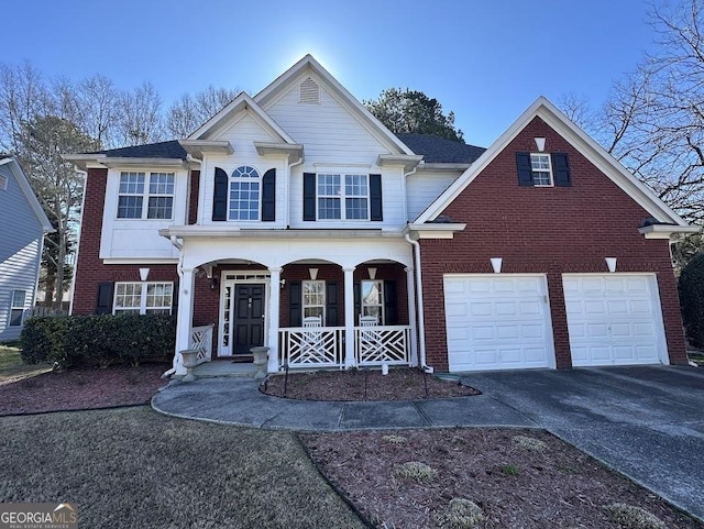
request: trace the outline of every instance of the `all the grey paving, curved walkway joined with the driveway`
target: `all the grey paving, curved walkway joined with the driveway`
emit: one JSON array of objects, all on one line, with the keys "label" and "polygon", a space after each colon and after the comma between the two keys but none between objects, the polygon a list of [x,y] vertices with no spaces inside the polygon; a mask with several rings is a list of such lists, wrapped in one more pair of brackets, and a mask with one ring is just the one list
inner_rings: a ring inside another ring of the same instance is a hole
[{"label": "all the grey paving, curved walkway joined with the driveway", "polygon": [[315,403],[262,395],[251,378],[206,378],[169,385],[152,406],[175,417],[297,431],[544,428],[704,520],[704,370],[526,370],[462,379],[483,395]]}]

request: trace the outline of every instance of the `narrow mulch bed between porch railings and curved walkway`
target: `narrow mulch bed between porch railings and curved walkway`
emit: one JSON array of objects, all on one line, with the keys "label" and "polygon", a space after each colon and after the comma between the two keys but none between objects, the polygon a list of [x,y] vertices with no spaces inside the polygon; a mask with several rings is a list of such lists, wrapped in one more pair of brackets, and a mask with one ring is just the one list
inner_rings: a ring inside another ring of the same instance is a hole
[{"label": "narrow mulch bed between porch railings and curved walkway", "polygon": [[[286,386],[286,387],[285,387]],[[417,368],[320,371],[275,375],[262,386],[275,397],[299,400],[419,400],[480,395],[459,381],[443,381]]]}]

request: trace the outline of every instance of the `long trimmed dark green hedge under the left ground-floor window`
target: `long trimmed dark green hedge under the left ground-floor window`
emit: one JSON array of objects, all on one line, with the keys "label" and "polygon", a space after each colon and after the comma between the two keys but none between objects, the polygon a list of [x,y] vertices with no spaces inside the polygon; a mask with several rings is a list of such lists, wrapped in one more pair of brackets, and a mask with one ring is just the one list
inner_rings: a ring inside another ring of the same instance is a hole
[{"label": "long trimmed dark green hedge under the left ground-floor window", "polygon": [[176,346],[176,317],[164,315],[30,318],[22,329],[22,360],[61,367],[167,362]]}]

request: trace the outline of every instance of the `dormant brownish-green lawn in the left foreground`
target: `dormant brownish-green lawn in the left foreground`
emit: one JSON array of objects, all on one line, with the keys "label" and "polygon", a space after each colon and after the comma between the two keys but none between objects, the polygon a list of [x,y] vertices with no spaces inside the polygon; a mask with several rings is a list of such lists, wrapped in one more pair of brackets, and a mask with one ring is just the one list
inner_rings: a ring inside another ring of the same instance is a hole
[{"label": "dormant brownish-green lawn in the left foreground", "polygon": [[362,528],[293,433],[147,407],[0,418],[0,502],[69,502],[85,528]]}]

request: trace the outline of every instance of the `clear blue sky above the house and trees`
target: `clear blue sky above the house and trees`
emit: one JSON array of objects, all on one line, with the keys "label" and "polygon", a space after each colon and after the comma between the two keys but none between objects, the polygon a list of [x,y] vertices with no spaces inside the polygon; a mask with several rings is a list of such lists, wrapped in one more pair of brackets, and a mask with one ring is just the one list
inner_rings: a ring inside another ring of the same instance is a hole
[{"label": "clear blue sky above the house and trees", "polygon": [[480,146],[539,96],[601,106],[654,40],[649,0],[12,3],[0,63],[47,78],[150,81],[167,106],[209,85],[256,93],[310,53],[360,100],[392,87],[436,98]]}]

